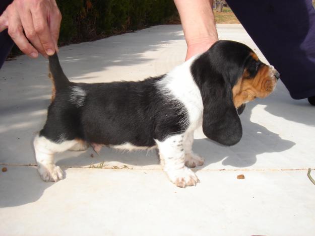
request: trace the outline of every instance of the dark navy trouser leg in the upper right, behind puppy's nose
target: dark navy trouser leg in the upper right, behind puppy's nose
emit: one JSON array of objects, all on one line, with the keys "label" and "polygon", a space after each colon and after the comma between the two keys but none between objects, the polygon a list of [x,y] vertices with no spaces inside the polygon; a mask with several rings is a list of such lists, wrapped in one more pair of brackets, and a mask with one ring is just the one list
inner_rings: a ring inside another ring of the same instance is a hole
[{"label": "dark navy trouser leg in the upper right, behind puppy's nose", "polygon": [[226,0],[294,99],[315,96],[315,10],[311,0]]}]

